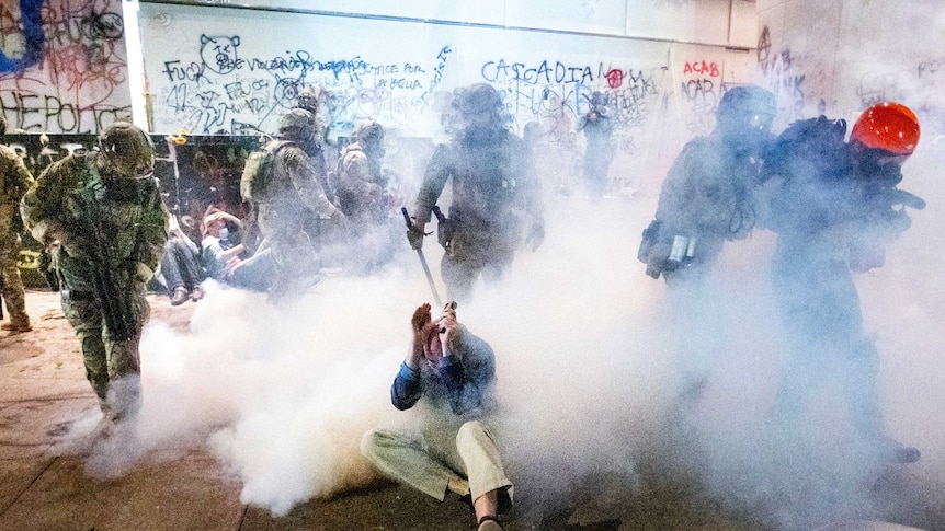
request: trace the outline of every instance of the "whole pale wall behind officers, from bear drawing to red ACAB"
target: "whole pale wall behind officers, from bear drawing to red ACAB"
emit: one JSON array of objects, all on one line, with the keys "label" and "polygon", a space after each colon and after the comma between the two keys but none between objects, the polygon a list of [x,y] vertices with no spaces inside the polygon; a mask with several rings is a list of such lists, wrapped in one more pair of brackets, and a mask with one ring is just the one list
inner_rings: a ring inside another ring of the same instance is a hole
[{"label": "whole pale wall behind officers, from bear drawing to red ACAB", "polygon": [[[156,131],[271,132],[299,88],[315,84],[326,91],[330,138],[350,135],[367,117],[396,135],[436,138],[452,90],[488,82],[502,91],[514,130],[540,123],[553,149],[570,160],[582,151],[578,119],[591,93],[603,91],[617,123],[612,177],[634,187],[661,176],[664,159],[711,128],[727,86],[755,80],[754,7],[149,1],[138,14],[147,123]],[[620,174],[629,168],[633,174]]]}]

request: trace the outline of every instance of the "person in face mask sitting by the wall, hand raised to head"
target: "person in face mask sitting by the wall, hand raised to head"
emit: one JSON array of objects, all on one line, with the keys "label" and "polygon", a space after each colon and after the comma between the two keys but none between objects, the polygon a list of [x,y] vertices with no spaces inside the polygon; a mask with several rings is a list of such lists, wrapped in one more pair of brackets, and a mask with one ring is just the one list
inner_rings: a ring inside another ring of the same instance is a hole
[{"label": "person in face mask sitting by the wall, hand raised to head", "polygon": [[236,216],[220,210],[204,218],[203,258],[207,278],[237,288],[267,291],[275,266],[272,252],[260,247],[254,255],[241,259],[246,250],[239,241],[243,224]]}]

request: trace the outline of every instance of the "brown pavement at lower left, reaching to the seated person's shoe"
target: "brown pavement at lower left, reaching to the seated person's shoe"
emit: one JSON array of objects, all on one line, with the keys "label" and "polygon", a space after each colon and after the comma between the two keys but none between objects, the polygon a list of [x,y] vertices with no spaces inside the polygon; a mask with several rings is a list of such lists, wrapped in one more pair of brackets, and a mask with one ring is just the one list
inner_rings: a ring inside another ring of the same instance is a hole
[{"label": "brown pavement at lower left, reaching to the seated person's shoe", "polygon": [[[194,304],[149,296],[152,321],[185,330]],[[34,331],[0,335],[0,530],[466,529],[459,503],[384,483],[311,500],[275,518],[240,501],[238,478],[200,445],[152,451],[113,480],[94,478],[98,401],[57,293],[31,291]],[[94,474],[93,474],[94,475]]]}]

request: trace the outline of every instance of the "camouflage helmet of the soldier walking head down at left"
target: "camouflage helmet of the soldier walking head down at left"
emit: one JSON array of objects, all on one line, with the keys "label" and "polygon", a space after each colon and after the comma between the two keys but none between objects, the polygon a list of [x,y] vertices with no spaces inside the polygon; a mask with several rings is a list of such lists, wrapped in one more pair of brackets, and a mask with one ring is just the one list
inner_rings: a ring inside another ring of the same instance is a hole
[{"label": "camouflage helmet of the soldier walking head down at left", "polygon": [[155,171],[151,138],[127,122],[115,122],[99,135],[99,152],[110,173],[122,177],[145,177]]}]

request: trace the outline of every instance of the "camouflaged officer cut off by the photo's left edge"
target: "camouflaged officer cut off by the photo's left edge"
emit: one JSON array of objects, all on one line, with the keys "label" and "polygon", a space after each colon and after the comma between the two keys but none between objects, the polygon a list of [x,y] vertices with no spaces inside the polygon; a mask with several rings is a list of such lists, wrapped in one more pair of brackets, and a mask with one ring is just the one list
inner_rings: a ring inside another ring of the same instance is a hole
[{"label": "camouflaged officer cut off by the photo's left edge", "polygon": [[33,185],[33,175],[16,152],[2,143],[5,135],[7,119],[0,114],[0,295],[10,314],[10,322],[0,328],[19,334],[33,330],[26,314],[23,280],[16,267],[21,226],[18,205]]}]

